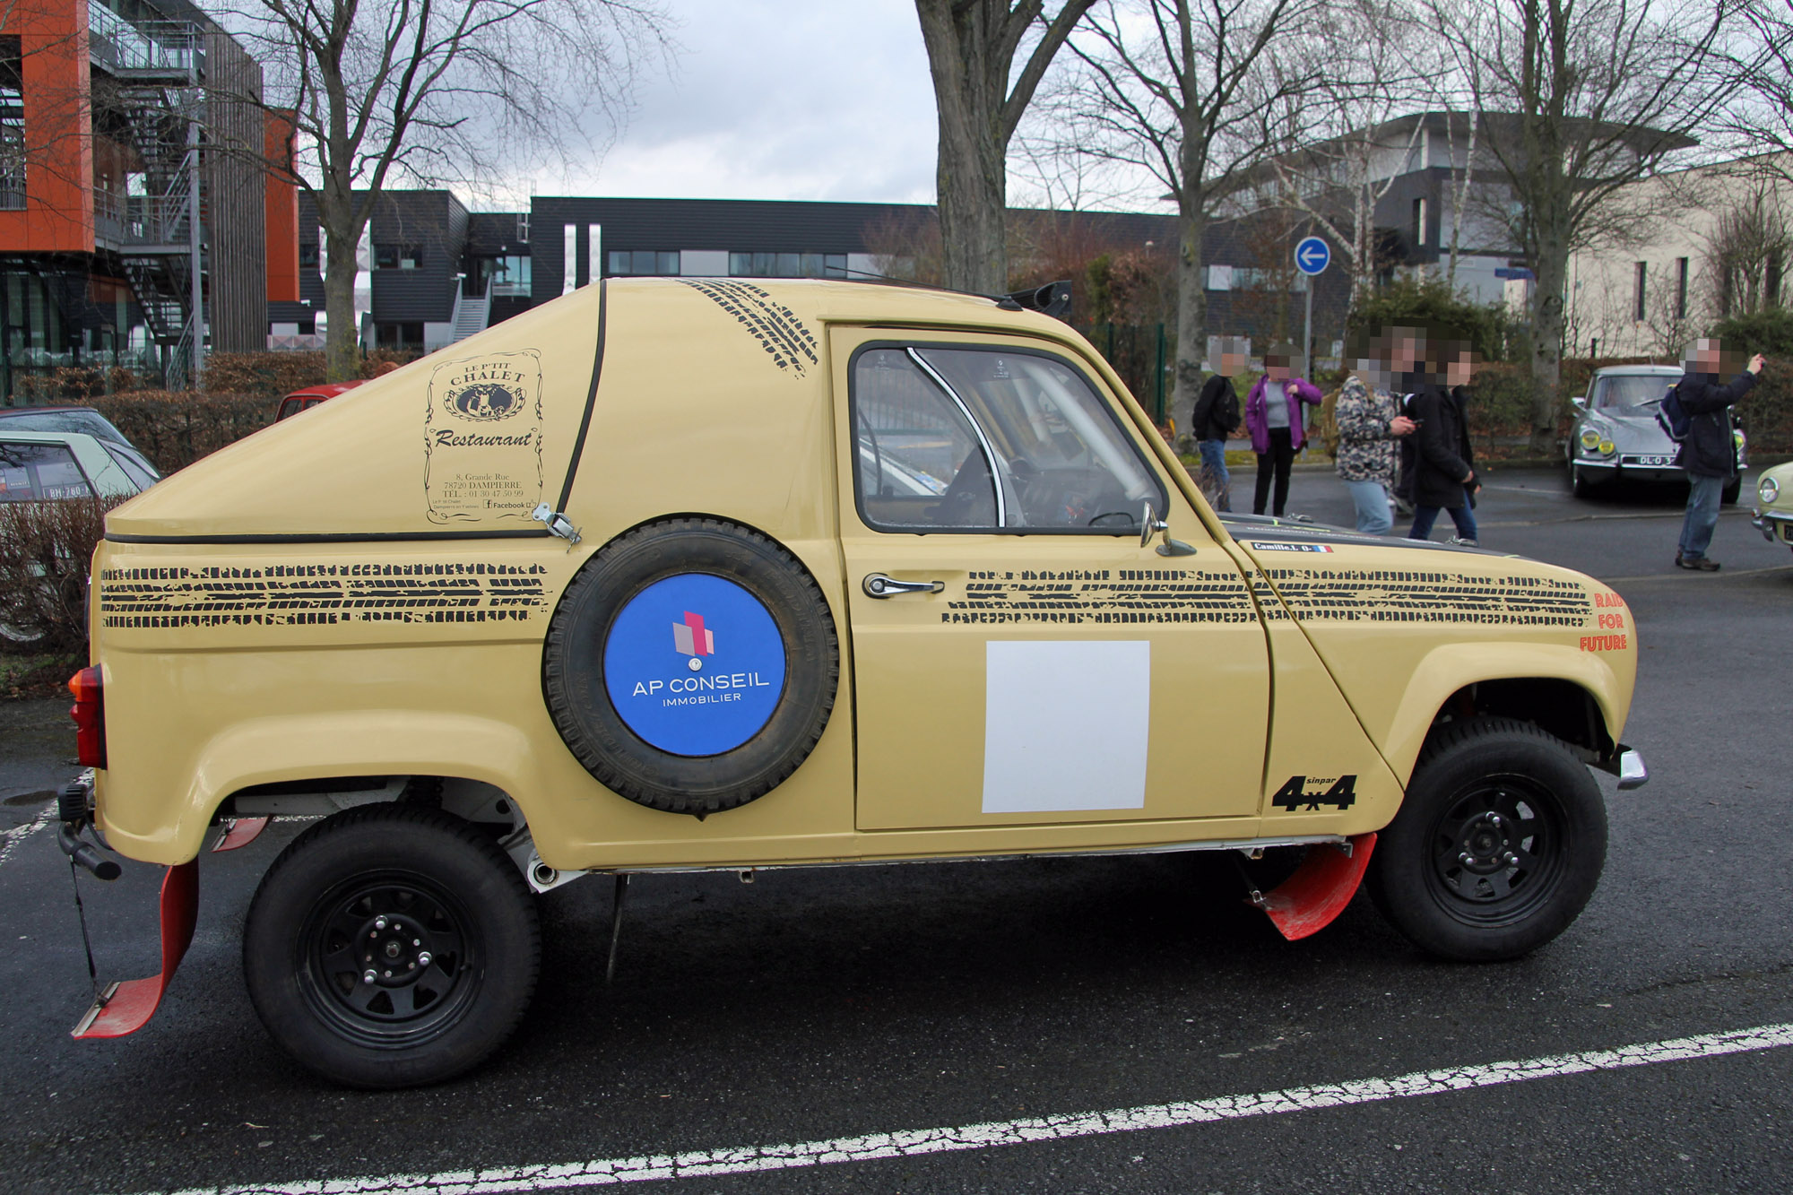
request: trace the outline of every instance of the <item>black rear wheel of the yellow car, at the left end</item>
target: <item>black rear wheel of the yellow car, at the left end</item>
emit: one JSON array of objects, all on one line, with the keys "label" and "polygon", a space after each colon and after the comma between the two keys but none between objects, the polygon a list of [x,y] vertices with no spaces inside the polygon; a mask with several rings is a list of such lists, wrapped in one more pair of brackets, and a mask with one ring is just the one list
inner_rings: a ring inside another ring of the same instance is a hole
[{"label": "black rear wheel of the yellow car, at the left end", "polygon": [[256,888],[242,962],[262,1025],[351,1087],[482,1062],[534,994],[541,931],[502,850],[420,806],[362,806],[299,834]]}]

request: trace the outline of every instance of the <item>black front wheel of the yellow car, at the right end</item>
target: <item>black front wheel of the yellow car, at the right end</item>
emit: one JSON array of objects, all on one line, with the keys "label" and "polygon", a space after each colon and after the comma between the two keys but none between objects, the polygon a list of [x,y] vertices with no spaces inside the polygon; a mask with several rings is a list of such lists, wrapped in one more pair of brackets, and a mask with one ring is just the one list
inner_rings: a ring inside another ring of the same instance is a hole
[{"label": "black front wheel of the yellow car, at the right end", "polygon": [[1519,958],[1581,913],[1607,861],[1607,807],[1560,739],[1508,718],[1436,732],[1370,861],[1370,895],[1415,946]]}]

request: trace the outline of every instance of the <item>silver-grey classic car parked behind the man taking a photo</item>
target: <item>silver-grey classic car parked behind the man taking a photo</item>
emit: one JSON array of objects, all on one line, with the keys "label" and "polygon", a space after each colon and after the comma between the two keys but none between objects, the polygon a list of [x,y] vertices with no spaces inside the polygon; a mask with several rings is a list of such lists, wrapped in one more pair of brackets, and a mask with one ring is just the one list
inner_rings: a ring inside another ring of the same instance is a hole
[{"label": "silver-grey classic car parked behind the man taking a photo", "polygon": [[[1574,423],[1563,452],[1576,497],[1589,497],[1619,481],[1685,484],[1675,465],[1680,445],[1657,423],[1662,397],[1680,380],[1678,366],[1608,366],[1594,371],[1585,398],[1571,398]],[[1741,429],[1737,472],[1748,467],[1748,443]],[[1737,501],[1739,483],[1723,490],[1725,504]]]}]

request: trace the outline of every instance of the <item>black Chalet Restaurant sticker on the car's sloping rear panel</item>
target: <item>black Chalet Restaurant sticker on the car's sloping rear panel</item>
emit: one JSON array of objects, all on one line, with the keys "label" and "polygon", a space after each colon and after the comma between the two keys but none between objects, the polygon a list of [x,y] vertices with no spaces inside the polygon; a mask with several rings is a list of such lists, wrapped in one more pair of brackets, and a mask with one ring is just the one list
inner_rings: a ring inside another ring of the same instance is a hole
[{"label": "black Chalet Restaurant sticker on the car's sloping rear panel", "polygon": [[534,350],[436,366],[423,411],[430,522],[527,526],[541,502],[541,359]]}]

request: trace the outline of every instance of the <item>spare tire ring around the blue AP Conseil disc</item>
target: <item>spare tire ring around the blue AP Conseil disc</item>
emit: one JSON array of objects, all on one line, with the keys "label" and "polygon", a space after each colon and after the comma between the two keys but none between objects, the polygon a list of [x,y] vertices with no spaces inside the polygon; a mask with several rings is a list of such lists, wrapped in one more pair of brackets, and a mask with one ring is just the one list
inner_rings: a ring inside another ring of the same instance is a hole
[{"label": "spare tire ring around the blue AP Conseil disc", "polygon": [[[717,755],[644,741],[604,687],[604,644],[624,606],[656,581],[694,572],[758,599],[785,653],[771,718]],[[758,531],[717,519],[651,522],[606,544],[567,587],[541,650],[541,693],[567,748],[604,788],[665,813],[721,813],[778,788],[816,750],[839,678],[834,615],[809,569]]]}]

